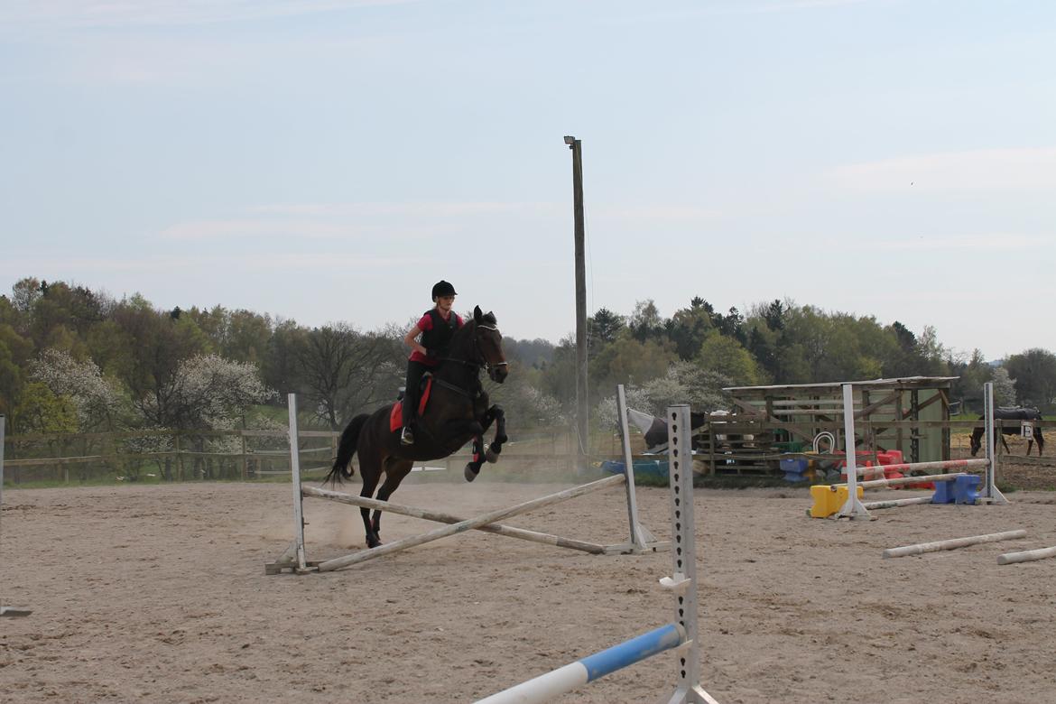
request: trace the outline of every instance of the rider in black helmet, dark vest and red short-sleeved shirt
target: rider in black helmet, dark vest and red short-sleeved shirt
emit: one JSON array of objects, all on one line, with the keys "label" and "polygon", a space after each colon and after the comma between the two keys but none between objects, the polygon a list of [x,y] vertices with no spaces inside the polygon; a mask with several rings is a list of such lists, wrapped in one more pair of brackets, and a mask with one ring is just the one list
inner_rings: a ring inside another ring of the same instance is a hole
[{"label": "rider in black helmet, dark vest and red short-sleeved shirt", "polygon": [[436,282],[433,286],[433,303],[436,305],[427,310],[421,320],[403,336],[403,344],[411,347],[412,351],[407,362],[407,383],[403,389],[403,430],[399,436],[401,444],[414,444],[411,423],[418,411],[418,386],[421,385],[421,375],[440,363],[440,358],[451,342],[451,336],[463,326],[463,319],[458,313],[451,311],[455,296],[457,293],[454,286],[446,281]]}]

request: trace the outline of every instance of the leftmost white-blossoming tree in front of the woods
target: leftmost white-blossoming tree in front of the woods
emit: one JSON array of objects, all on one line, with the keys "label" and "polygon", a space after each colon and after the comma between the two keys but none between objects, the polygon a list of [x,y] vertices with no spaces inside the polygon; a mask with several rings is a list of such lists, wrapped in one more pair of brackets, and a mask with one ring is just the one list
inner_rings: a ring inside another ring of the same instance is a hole
[{"label": "leftmost white-blossoming tree in front of the woods", "polygon": [[117,382],[105,377],[95,362],[78,362],[61,349],[43,350],[33,364],[31,378],[55,396],[70,400],[82,432],[113,430],[121,424],[129,410]]}]

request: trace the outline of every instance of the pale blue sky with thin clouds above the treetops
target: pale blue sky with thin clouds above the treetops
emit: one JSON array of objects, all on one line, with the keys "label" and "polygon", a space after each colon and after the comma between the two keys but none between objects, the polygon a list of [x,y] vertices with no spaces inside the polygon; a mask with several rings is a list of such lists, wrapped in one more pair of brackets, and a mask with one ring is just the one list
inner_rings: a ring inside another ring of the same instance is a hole
[{"label": "pale blue sky with thin clouds above the treetops", "polygon": [[0,292],[504,335],[699,296],[1056,350],[1048,0],[4,0]]}]

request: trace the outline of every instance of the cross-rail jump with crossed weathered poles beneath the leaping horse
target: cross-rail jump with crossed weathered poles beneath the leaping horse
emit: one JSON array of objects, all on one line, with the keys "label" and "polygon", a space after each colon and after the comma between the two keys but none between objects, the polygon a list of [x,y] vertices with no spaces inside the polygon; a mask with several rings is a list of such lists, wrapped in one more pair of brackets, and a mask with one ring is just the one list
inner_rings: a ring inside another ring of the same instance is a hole
[{"label": "cross-rail jump with crossed weathered poles beneath the leaping horse", "polygon": [[[620,389],[622,392],[622,388]],[[621,399],[622,400],[622,399]],[[324,489],[317,489],[314,487],[304,487],[301,483],[301,469],[297,449],[297,398],[294,394],[288,396],[288,407],[289,407],[289,446],[290,446],[290,474],[293,477],[294,484],[294,524],[295,524],[295,537],[294,541],[283,551],[282,555],[274,563],[268,563],[264,566],[265,574],[278,574],[285,569],[289,569],[298,574],[303,574],[307,572],[331,572],[333,570],[340,569],[342,567],[348,567],[351,565],[358,565],[364,563],[369,559],[374,559],[375,557],[382,557],[384,555],[390,555],[395,552],[400,552],[409,548],[413,548],[426,543],[431,543],[433,540],[438,540],[456,533],[464,533],[469,530],[479,530],[489,533],[495,533],[497,535],[505,535],[507,537],[518,538],[522,540],[530,540],[532,543],[540,543],[543,545],[550,545],[558,548],[568,548],[570,550],[582,550],[584,552],[592,554],[623,554],[623,553],[641,553],[650,552],[666,549],[670,545],[667,541],[660,541],[656,539],[644,526],[638,521],[638,511],[637,501],[635,498],[634,491],[634,469],[628,465],[624,474],[614,475],[611,477],[605,477],[604,479],[599,479],[590,483],[582,484],[579,487],[573,487],[571,489],[566,489],[564,491],[558,492],[555,494],[549,494],[530,501],[525,501],[516,506],[512,506],[506,509],[497,509],[489,513],[475,516],[473,518],[463,518],[460,516],[454,516],[440,511],[432,511],[430,509],[420,509],[417,507],[401,506],[398,503],[390,503],[389,501],[379,501],[378,499],[366,498],[363,496],[355,496],[352,494],[344,494],[341,492],[327,491]],[[626,418],[624,417],[624,423],[626,423]],[[624,434],[626,437],[626,434]],[[626,439],[625,439],[626,442]],[[498,524],[499,520],[515,516],[522,513],[527,513],[535,509],[540,509],[546,506],[551,506],[560,501],[565,501],[577,496],[582,496],[593,491],[601,489],[607,489],[609,487],[615,487],[617,484],[623,484],[627,491],[627,513],[630,521],[630,535],[631,539],[628,543],[618,544],[618,545],[599,545],[595,543],[586,543],[584,540],[576,540],[573,538],[566,538],[560,535],[550,535],[549,533],[540,533],[538,531],[529,531],[522,528],[514,528],[512,526],[503,526]],[[343,557],[335,557],[327,560],[316,560],[309,562],[305,556],[304,547],[304,510],[302,506],[302,498],[305,496],[310,496],[315,498],[323,498],[332,501],[338,501],[340,503],[348,503],[352,506],[358,506],[361,508],[376,509],[380,511],[389,511],[392,513],[399,513],[407,516],[413,516],[417,518],[423,518],[426,520],[432,520],[440,524],[449,524],[445,528],[437,528],[428,533],[422,533],[420,535],[413,535],[406,537],[393,543],[379,546],[377,548],[371,548],[366,550],[361,550],[351,555],[344,555]]]}]

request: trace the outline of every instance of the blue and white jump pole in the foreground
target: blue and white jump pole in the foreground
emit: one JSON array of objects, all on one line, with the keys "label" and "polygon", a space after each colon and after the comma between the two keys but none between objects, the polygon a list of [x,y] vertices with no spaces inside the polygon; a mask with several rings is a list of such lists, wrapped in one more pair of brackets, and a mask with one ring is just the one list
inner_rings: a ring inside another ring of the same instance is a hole
[{"label": "blue and white jump pole in the foreground", "polygon": [[593,682],[610,672],[652,658],[658,652],[677,648],[685,641],[685,630],[678,624],[667,624],[620,645],[596,652],[570,665],[541,674],[533,680],[496,692],[476,704],[538,704]]}]

